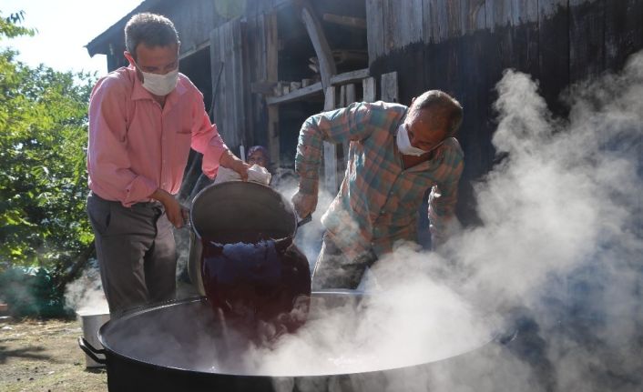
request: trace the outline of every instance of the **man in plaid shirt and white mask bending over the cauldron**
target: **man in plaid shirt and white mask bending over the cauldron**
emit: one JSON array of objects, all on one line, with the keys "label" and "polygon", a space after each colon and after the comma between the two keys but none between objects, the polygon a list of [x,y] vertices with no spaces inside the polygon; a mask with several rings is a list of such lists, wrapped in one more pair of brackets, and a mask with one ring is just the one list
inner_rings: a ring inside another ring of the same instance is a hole
[{"label": "man in plaid shirt and white mask bending over the cauldron", "polygon": [[384,102],[311,116],[301,126],[292,202],[299,216],[317,206],[323,141],[350,141],[342,186],[326,213],[322,251],[313,288],[355,288],[368,266],[393,252],[398,241],[416,241],[417,211],[428,189],[433,246],[444,242],[454,218],[464,154],[453,137],[463,108],[450,95],[430,90],[411,106]]}]

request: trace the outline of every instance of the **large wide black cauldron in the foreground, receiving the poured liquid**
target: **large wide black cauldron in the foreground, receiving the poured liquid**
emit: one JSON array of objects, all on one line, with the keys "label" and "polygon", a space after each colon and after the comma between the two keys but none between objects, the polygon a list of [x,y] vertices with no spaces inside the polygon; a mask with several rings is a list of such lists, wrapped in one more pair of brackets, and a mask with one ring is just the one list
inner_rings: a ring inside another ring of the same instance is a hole
[{"label": "large wide black cauldron in the foreground, receiving the poured liquid", "polygon": [[[337,309],[344,315],[359,314],[364,298],[368,297],[354,291],[313,292],[309,321],[298,334],[323,317],[333,317],[331,312]],[[351,334],[354,327],[347,322],[337,329]],[[383,342],[386,338],[382,337]],[[360,365],[360,358],[367,356],[337,347],[338,357],[320,356],[330,364],[328,367],[311,367],[295,355],[290,367],[267,372],[262,369],[265,363],[249,360],[248,353],[253,348],[250,341],[222,324],[206,299],[200,297],[112,319],[100,328],[99,340],[104,350],[87,347],[82,338],[79,343],[88,355],[107,363],[107,384],[112,392],[378,391],[390,387],[390,377],[407,377],[414,369],[465,360],[487,346],[492,337],[476,337],[440,354],[435,347],[427,347],[425,357],[419,361],[391,353],[391,357],[371,358],[367,365]],[[400,352],[407,349],[400,347]],[[399,360],[393,366],[392,357]]]}]

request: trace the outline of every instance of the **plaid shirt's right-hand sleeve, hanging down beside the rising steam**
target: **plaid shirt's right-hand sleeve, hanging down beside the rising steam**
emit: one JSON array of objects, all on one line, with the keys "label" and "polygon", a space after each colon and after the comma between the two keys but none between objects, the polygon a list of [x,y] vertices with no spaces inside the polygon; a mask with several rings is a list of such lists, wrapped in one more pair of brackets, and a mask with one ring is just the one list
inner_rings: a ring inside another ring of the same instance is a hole
[{"label": "plaid shirt's right-hand sleeve, hanging down beside the rising steam", "polygon": [[441,154],[444,176],[437,181],[429,195],[429,229],[436,242],[444,241],[449,221],[454,216],[458,197],[458,183],[464,169],[464,154],[457,140],[447,139]]}]

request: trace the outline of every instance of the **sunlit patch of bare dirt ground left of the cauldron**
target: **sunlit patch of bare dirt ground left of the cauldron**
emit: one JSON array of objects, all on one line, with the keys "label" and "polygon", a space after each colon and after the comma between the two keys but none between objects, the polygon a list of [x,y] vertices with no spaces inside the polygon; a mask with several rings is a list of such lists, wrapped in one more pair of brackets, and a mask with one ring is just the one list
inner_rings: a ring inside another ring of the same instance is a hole
[{"label": "sunlit patch of bare dirt ground left of the cauldron", "polygon": [[105,369],[87,370],[78,320],[0,318],[0,391],[103,392]]}]

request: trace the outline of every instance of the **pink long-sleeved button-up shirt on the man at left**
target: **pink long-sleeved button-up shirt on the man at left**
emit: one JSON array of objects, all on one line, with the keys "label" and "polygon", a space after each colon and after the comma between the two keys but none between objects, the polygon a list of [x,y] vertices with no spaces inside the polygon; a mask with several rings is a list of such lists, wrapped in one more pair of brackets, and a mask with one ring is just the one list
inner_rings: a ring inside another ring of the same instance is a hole
[{"label": "pink long-sleeved button-up shirt on the man at left", "polygon": [[203,95],[185,75],[161,107],[133,67],[101,78],[89,102],[89,188],[123,206],[148,201],[161,188],[179,193],[190,146],[203,154],[203,173],[217,175],[228,148],[209,121]]}]

